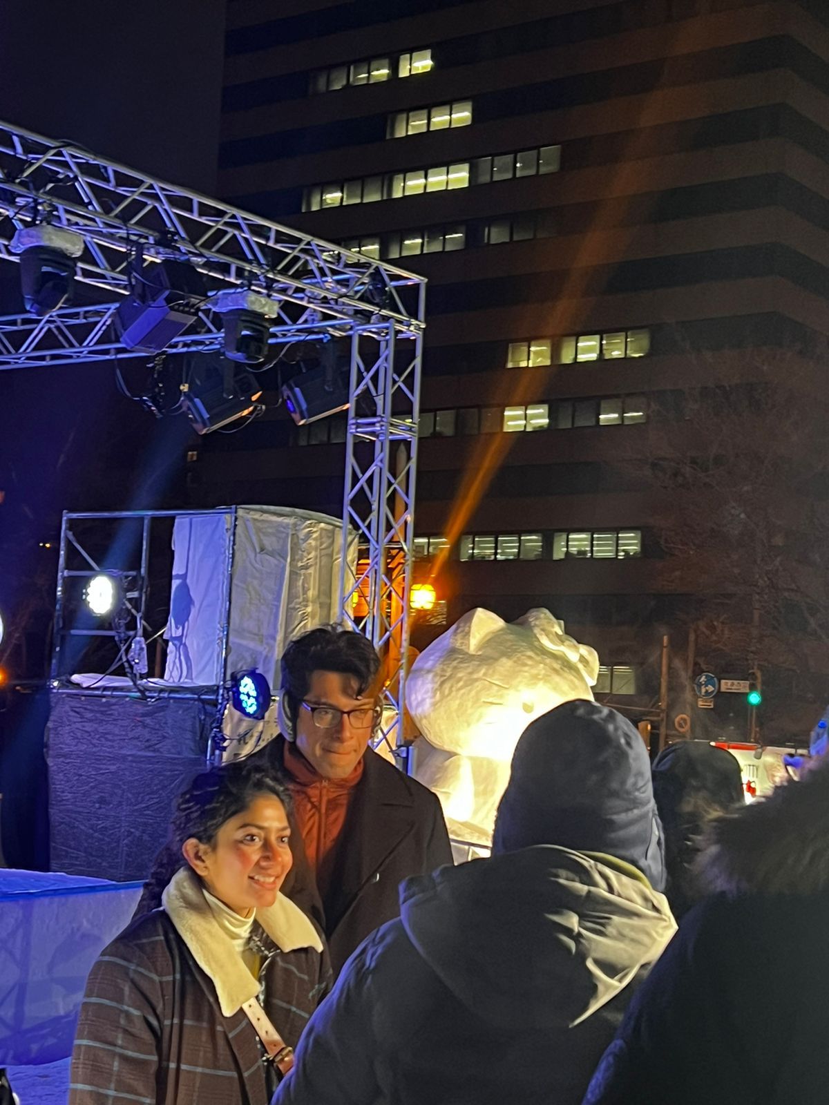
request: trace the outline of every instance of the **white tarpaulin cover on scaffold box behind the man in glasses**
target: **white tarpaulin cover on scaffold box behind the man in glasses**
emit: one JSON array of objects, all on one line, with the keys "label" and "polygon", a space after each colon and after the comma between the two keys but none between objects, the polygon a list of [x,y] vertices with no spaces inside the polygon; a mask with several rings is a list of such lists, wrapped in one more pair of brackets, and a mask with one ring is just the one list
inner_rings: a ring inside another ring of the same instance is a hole
[{"label": "white tarpaulin cover on scaffold box behind the man in glasses", "polygon": [[[300,633],[339,618],[340,522],[274,506],[240,506],[228,580],[232,517],[176,519],[168,683],[216,685],[258,667],[274,692],[279,661]],[[228,663],[221,664],[223,611],[230,587]]]}]

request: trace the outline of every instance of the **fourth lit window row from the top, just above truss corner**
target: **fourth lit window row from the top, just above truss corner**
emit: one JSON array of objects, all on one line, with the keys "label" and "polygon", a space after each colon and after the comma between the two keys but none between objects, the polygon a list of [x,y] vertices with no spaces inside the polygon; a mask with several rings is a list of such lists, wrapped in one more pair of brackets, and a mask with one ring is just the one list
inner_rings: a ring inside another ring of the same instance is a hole
[{"label": "fourth lit window row from the top, just above truss corner", "polygon": [[450,253],[469,245],[500,245],[523,242],[555,234],[555,223],[547,212],[517,215],[514,219],[491,219],[489,222],[455,222],[443,227],[398,230],[388,234],[370,234],[343,242],[346,250],[363,253],[375,261],[411,257],[421,253]]}]

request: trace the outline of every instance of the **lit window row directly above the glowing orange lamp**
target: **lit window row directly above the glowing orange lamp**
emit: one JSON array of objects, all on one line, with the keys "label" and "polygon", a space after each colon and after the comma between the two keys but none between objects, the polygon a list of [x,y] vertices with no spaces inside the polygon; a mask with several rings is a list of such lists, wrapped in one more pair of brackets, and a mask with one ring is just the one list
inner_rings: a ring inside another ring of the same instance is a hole
[{"label": "lit window row directly above the glowing orange lamp", "polygon": [[[414,558],[437,556],[448,548],[445,537],[416,537]],[[459,559],[468,560],[543,560],[544,534],[463,534]],[[594,560],[623,560],[642,555],[641,529],[557,530],[553,534],[552,557]]]}]

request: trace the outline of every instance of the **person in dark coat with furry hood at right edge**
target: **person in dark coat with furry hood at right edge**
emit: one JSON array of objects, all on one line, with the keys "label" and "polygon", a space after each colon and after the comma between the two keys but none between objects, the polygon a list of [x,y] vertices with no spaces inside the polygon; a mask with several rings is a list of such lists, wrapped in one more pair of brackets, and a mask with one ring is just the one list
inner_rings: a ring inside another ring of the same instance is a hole
[{"label": "person in dark coat with furry hood at right edge", "polygon": [[683,919],[585,1105],[823,1105],[829,764],[712,823]]}]

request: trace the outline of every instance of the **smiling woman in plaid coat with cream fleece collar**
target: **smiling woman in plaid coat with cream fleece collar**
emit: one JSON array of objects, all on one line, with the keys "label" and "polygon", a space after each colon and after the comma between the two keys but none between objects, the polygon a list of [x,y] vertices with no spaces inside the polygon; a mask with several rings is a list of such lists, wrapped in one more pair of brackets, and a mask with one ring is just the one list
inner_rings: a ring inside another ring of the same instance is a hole
[{"label": "smiling woman in plaid coat with cream fleece collar", "polygon": [[330,987],[316,929],[280,894],[290,801],[244,760],[181,794],[151,912],[90,974],[70,1105],[266,1105]]}]

